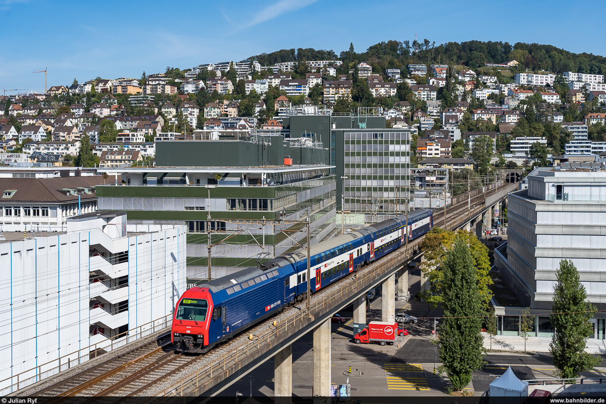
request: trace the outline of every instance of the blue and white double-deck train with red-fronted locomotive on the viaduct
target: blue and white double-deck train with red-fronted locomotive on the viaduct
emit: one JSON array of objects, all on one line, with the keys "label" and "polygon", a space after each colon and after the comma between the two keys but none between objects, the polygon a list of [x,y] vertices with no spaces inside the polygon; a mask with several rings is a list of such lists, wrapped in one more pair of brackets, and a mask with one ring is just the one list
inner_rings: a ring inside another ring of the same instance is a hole
[{"label": "blue and white double-deck train with red-fronted locomotive on the viaduct", "polygon": [[[433,227],[431,211],[416,209],[311,247],[311,293],[416,239]],[[301,300],[307,293],[307,252],[272,259],[256,268],[188,289],[171,329],[179,351],[205,353],[251,325]]]}]

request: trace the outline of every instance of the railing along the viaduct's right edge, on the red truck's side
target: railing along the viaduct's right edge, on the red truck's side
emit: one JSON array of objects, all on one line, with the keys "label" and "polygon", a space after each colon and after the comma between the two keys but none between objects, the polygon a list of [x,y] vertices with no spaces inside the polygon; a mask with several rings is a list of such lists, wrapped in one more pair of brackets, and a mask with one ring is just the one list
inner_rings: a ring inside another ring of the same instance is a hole
[{"label": "railing along the viaduct's right edge, on the red truck's side", "polygon": [[[484,205],[480,205],[467,211],[467,214],[462,214],[459,217],[448,220],[447,229],[453,230],[458,228],[459,225],[471,217],[478,215],[483,210]],[[318,316],[325,315],[333,306],[342,303],[344,298],[353,296],[362,290],[367,290],[368,285],[378,282],[386,274],[393,271],[394,268],[398,268],[404,264],[420,242],[421,240],[415,240],[415,242],[408,244],[407,249],[400,247],[388,256],[383,257],[378,260],[379,265],[377,268],[354,276],[353,282],[343,283],[340,287],[337,284],[335,285],[336,287],[329,288],[326,291],[328,296],[324,295],[322,296],[323,299],[316,299],[316,302],[311,303],[309,308],[301,308],[299,313],[295,313],[287,319],[274,322],[273,328],[223,354],[222,357],[211,362],[206,368],[199,369],[195,373],[183,377],[179,382],[160,391],[156,396],[182,396],[184,392],[188,392],[191,389],[198,389],[207,383],[211,384],[213,377],[217,377],[221,373],[223,373],[222,376],[228,377],[230,373],[233,374],[235,371],[241,369],[242,365],[250,362],[245,362],[245,359],[251,353],[253,353],[253,356],[258,357],[269,349],[279,346],[281,343],[280,335],[285,337],[296,333],[296,331],[313,322]]]}]

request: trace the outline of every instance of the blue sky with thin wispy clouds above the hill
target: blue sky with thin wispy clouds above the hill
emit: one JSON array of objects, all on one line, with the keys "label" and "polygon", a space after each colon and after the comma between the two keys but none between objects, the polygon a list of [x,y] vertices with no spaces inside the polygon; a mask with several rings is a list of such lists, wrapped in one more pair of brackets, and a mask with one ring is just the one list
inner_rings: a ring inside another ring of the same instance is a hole
[{"label": "blue sky with thin wispy clouds above the hill", "polygon": [[[171,7],[174,5],[174,7]],[[467,7],[468,5],[468,7]],[[538,42],[606,55],[604,1],[0,0],[0,86],[135,77],[282,48],[356,51],[395,39]]]}]

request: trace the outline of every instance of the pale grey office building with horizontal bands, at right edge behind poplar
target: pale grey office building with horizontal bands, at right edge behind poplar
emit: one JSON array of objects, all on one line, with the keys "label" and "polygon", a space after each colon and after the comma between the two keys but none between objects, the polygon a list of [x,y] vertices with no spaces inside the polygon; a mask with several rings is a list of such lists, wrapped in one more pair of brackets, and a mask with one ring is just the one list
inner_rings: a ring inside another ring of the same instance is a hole
[{"label": "pale grey office building with horizontal bands, at right edge behind poplar", "polygon": [[[495,265],[522,305],[538,314],[536,336],[553,334],[549,316],[542,313],[551,310],[560,261],[569,259],[579,271],[588,300],[598,308],[590,320],[594,329],[590,343],[606,338],[606,289],[601,282],[606,268],[602,254],[606,172],[599,167],[592,172],[534,171],[527,177],[526,190],[508,195],[507,256],[496,252]],[[518,319],[510,317],[502,317],[502,329],[514,334],[519,331]]]}]

